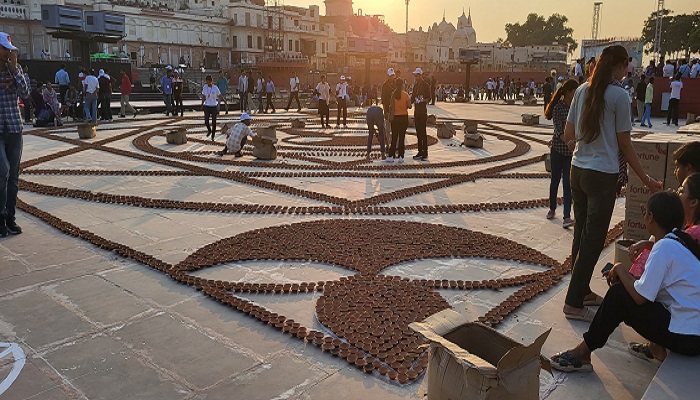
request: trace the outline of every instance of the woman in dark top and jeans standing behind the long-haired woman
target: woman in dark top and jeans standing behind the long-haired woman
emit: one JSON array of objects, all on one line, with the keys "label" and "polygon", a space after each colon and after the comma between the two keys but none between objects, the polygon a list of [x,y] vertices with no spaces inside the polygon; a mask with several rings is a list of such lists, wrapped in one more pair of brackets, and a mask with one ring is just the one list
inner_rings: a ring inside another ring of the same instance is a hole
[{"label": "woman in dark top and jeans standing behind the long-haired woman", "polygon": [[[549,86],[549,83],[545,84],[545,86]],[[574,225],[574,220],[571,219],[570,184],[571,158],[573,154],[564,142],[564,127],[566,126],[566,117],[569,115],[569,107],[577,88],[578,82],[576,80],[567,80],[554,93],[544,112],[544,117],[551,119],[554,123],[554,135],[552,135],[552,145],[549,153],[552,175],[549,182],[549,212],[547,213],[547,219],[554,219],[556,215],[559,182],[563,180],[564,220],[562,226],[564,228]]]}]

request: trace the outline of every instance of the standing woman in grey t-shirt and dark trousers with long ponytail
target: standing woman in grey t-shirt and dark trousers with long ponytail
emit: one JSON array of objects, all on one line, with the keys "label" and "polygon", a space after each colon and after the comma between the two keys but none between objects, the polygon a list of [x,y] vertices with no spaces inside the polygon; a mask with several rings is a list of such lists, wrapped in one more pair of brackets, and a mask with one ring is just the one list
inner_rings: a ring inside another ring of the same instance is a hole
[{"label": "standing woman in grey t-shirt and dark trousers with long ponytail", "polygon": [[628,58],[623,46],[603,50],[589,81],[576,90],[564,127],[564,142],[570,149],[575,145],[571,162],[576,216],[573,269],[563,309],[569,319],[590,322],[595,312],[587,306],[601,302],[590,282],[615,208],[620,173],[627,171],[620,153],[651,192],[663,186],[644,173],[632,146],[629,97],[620,83]]}]

